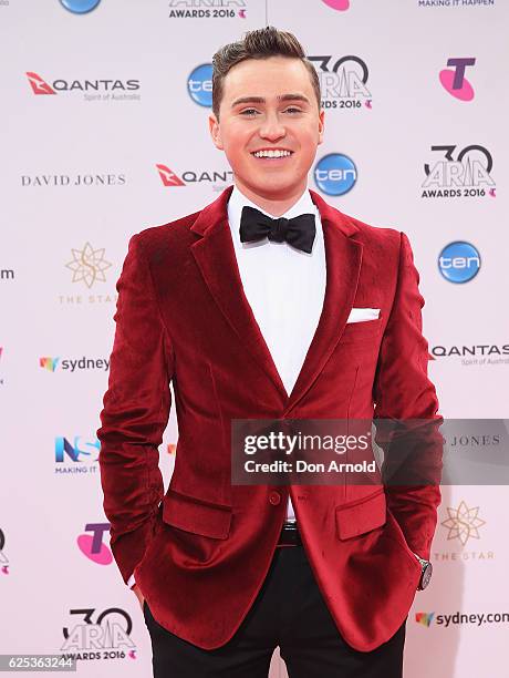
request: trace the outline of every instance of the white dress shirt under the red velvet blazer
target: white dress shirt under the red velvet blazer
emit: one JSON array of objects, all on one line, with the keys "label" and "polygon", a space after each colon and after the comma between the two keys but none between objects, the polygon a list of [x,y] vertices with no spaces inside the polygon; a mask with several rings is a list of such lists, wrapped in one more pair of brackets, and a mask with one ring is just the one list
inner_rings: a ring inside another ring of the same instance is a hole
[{"label": "white dress shirt under the red velvet blazer", "polygon": [[[288,219],[314,214],[316,235],[311,254],[288,243],[240,242],[242,207],[249,205],[273,217],[233,187],[228,201],[228,222],[245,295],[290,394],[304,362],[322,312],[325,296],[325,246],[320,212],[307,189],[284,214]],[[287,518],[295,520],[289,497]],[[127,585],[135,584],[134,575]]]}]

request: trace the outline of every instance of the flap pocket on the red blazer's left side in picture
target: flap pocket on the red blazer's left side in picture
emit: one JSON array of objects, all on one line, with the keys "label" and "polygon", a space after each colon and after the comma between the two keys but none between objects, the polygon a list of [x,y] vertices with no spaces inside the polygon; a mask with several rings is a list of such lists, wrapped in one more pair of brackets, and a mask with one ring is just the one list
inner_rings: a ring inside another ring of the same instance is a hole
[{"label": "flap pocket on the red blazer's left side in picture", "polygon": [[199,500],[168,490],[163,500],[163,521],[193,534],[226,540],[230,533],[231,507],[202,504]]}]

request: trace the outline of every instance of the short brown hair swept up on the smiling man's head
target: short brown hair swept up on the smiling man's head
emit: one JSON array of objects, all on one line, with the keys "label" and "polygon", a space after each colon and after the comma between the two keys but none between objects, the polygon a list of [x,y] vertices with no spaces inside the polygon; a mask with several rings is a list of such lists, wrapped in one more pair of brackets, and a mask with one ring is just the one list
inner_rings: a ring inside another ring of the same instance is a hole
[{"label": "short brown hair swept up on the smiling man's head", "polygon": [[289,56],[300,59],[308,69],[321,107],[320,81],[313,64],[305,58],[299,40],[293,33],[278,31],[273,25],[248,31],[242,40],[230,42],[220,48],[212,56],[212,111],[219,120],[219,106],[222,100],[222,83],[230,69],[247,59],[268,59],[269,56]]}]

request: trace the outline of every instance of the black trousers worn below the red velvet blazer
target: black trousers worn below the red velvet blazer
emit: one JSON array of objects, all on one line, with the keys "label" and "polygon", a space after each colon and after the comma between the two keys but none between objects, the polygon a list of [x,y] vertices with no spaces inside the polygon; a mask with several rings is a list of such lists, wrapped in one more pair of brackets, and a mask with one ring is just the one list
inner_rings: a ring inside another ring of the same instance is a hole
[{"label": "black trousers worn below the red velvet blazer", "polygon": [[[193,605],[193,592],[189,592]],[[154,678],[267,678],[279,645],[290,678],[401,678],[406,620],[371,653],[341,637],[302,546],[278,547],[247,617],[222,647],[204,650],[166,630],[144,604]]]}]

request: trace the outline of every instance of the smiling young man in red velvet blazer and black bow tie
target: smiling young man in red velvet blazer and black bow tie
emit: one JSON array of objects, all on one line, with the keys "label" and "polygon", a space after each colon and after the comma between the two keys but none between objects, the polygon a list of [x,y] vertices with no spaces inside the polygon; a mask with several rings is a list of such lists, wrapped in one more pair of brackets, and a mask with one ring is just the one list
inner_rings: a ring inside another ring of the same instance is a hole
[{"label": "smiling young man in red velvet blazer and black bow tie", "polygon": [[135,235],[117,285],[97,431],[112,549],[156,678],[261,678],[278,645],[292,678],[397,678],[438,487],[233,485],[229,441],[233,419],[439,419],[411,246],[307,188],[324,112],[292,34],[226,45],[212,84],[235,186]]}]

